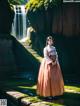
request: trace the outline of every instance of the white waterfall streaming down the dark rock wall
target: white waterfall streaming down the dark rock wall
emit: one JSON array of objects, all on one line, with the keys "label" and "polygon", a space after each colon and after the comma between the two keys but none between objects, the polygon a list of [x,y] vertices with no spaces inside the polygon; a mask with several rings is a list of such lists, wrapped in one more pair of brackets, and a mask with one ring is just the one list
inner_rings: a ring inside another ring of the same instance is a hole
[{"label": "white waterfall streaming down the dark rock wall", "polygon": [[14,5],[14,21],[12,24],[12,35],[17,39],[23,39],[27,36],[27,17],[24,5]]}]

